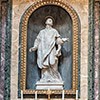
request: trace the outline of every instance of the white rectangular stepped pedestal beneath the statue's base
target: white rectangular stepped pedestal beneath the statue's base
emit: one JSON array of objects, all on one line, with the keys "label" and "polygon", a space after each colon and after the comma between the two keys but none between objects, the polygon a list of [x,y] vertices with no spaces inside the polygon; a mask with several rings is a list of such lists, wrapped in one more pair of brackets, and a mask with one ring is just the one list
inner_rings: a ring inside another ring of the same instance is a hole
[{"label": "white rectangular stepped pedestal beneath the statue's base", "polygon": [[63,82],[58,82],[58,83],[51,83],[51,82],[45,82],[45,83],[41,83],[41,82],[37,82],[36,83],[36,89],[37,90],[63,90]]}]

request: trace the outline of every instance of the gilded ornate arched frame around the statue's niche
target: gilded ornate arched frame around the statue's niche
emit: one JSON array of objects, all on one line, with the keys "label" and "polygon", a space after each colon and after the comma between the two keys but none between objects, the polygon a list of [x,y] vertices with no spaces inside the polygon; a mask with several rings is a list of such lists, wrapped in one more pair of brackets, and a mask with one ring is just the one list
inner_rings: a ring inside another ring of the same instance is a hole
[{"label": "gilded ornate arched frame around the statue's niche", "polygon": [[[34,94],[35,90],[26,89],[26,61],[27,61],[27,24],[31,14],[41,6],[44,5],[57,5],[64,8],[72,18],[73,22],[73,78],[72,78],[72,90],[65,90],[66,94],[76,94],[78,89],[78,15],[75,10],[63,0],[37,0],[35,1],[22,16],[22,29],[21,29],[21,90],[24,94]],[[61,94],[61,90],[52,90],[53,94]],[[46,90],[38,91],[38,94],[46,94]]]}]

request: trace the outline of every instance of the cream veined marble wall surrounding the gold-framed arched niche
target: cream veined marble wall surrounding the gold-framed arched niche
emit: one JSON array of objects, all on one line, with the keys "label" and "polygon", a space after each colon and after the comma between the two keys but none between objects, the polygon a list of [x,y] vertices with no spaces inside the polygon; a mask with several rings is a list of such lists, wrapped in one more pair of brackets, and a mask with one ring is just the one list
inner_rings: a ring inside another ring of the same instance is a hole
[{"label": "cream veined marble wall surrounding the gold-framed arched niche", "polygon": [[[11,50],[11,100],[18,100],[19,25],[23,13],[36,0],[13,0]],[[88,100],[88,0],[65,0],[81,21],[80,100]],[[31,100],[31,99],[25,99]],[[44,100],[44,99],[42,99]],[[58,100],[58,99],[57,99]],[[69,100],[69,99],[68,99]],[[73,100],[73,99],[72,99]]]}]

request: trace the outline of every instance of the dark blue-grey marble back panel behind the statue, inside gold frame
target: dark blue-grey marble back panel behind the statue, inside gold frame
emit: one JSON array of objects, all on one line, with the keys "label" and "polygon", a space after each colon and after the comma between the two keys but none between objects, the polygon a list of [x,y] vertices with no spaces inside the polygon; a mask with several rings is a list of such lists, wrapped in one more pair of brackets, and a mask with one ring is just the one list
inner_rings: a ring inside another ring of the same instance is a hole
[{"label": "dark blue-grey marble back panel behind the statue, inside gold frame", "polygon": [[26,88],[35,89],[35,83],[40,79],[40,69],[36,61],[36,52],[29,52],[34,45],[34,40],[39,31],[45,28],[46,16],[52,16],[55,20],[54,28],[58,30],[61,37],[68,37],[70,42],[62,46],[62,56],[59,58],[59,72],[64,80],[64,88],[72,88],[72,20],[70,15],[61,7],[48,5],[37,9],[28,22],[27,33],[27,80]]}]

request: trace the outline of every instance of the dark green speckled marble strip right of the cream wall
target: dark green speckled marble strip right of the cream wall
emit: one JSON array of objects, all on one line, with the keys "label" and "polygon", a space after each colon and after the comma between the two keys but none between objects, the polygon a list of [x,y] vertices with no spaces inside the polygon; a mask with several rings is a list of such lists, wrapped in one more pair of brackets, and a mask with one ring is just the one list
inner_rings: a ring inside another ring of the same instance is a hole
[{"label": "dark green speckled marble strip right of the cream wall", "polygon": [[89,0],[88,100],[94,100],[94,0]]}]

